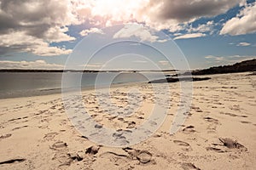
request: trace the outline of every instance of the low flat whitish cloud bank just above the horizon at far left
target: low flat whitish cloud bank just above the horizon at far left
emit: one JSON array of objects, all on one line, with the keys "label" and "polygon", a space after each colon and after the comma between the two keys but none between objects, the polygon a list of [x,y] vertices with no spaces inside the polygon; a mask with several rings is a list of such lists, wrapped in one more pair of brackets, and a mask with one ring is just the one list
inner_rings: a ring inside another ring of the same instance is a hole
[{"label": "low flat whitish cloud bank just above the horizon at far left", "polygon": [[63,65],[49,64],[44,60],[36,61],[0,61],[0,69],[38,69],[38,70],[62,70]]}]

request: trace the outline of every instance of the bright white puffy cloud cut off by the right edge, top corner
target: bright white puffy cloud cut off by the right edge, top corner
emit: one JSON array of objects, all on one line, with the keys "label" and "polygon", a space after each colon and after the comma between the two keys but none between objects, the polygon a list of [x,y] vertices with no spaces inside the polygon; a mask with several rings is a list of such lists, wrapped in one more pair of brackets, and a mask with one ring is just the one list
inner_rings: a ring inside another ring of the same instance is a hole
[{"label": "bright white puffy cloud cut off by the right edge, top corner", "polygon": [[247,4],[236,17],[228,20],[222,30],[221,35],[230,34],[232,36],[243,35],[256,32],[256,2]]}]

